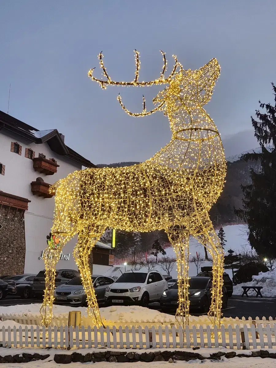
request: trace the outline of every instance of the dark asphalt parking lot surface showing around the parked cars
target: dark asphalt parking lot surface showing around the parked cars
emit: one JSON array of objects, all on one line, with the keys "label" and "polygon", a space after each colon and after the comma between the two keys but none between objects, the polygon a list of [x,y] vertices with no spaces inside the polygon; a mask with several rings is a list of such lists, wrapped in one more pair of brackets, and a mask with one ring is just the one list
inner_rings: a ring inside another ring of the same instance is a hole
[{"label": "dark asphalt parking lot surface showing around the parked cars", "polygon": [[[41,301],[36,299],[17,299],[15,297],[7,297],[6,299],[0,301],[0,306],[16,305],[16,304],[32,304],[40,303]],[[151,309],[159,309],[158,303],[150,305]],[[171,313],[173,314],[173,313]],[[199,315],[196,312],[192,315]],[[225,317],[255,317],[268,318],[272,316],[273,319],[276,318],[276,298],[254,298],[254,297],[238,297],[233,296],[228,300],[228,308],[223,310],[223,316]]]}]

